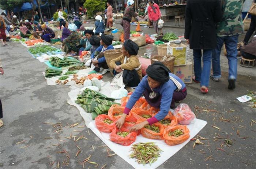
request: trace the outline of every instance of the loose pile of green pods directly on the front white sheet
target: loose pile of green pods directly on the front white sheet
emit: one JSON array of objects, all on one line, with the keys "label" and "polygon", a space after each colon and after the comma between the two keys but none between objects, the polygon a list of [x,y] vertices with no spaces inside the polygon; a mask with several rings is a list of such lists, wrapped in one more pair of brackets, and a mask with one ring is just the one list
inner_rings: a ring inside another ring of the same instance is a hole
[{"label": "loose pile of green pods directly on the front white sheet", "polygon": [[136,161],[143,165],[148,163],[151,165],[157,161],[157,158],[160,157],[160,153],[162,152],[154,142],[133,144],[131,149],[133,153],[129,157],[136,158]]}]

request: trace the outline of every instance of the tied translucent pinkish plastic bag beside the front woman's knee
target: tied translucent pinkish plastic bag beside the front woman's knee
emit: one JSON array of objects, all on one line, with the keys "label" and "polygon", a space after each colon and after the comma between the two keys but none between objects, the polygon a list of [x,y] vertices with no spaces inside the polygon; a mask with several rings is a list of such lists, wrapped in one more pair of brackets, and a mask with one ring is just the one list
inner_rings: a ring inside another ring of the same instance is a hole
[{"label": "tied translucent pinkish plastic bag beside the front woman's knee", "polygon": [[190,123],[193,123],[194,119],[196,118],[196,115],[185,103],[178,105],[174,110],[173,115],[177,118],[178,123],[181,125],[189,125]]}]

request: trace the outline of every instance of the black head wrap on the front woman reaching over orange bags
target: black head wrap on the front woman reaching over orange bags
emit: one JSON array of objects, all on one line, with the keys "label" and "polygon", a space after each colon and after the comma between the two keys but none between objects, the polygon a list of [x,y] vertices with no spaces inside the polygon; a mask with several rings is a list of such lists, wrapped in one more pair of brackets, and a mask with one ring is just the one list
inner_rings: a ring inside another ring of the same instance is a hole
[{"label": "black head wrap on the front woman reaching over orange bags", "polygon": [[153,64],[149,65],[146,69],[146,73],[150,78],[165,83],[168,82],[169,78],[169,68],[167,68],[163,63],[161,62],[154,62]]}]

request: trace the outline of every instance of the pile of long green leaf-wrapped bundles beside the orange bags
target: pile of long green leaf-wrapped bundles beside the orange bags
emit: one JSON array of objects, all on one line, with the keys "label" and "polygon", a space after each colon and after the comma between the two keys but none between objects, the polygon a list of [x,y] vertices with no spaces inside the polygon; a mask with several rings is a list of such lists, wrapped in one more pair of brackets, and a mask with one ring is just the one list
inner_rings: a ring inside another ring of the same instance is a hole
[{"label": "pile of long green leaf-wrapped bundles beside the orange bags", "polygon": [[85,89],[81,94],[77,95],[75,103],[81,105],[87,113],[92,113],[94,119],[99,114],[107,114],[112,105],[120,105],[119,103],[113,102],[114,100],[97,91]]}]

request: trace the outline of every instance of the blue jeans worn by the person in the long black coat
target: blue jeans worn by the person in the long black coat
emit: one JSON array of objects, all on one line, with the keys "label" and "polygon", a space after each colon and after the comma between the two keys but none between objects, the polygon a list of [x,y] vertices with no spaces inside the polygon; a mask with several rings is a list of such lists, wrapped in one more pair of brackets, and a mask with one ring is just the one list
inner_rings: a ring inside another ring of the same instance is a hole
[{"label": "blue jeans worn by the person in the long black coat", "polygon": [[203,70],[201,66],[201,50],[193,50],[195,79],[201,82],[200,86],[209,86],[211,72],[212,50],[203,50]]}]

